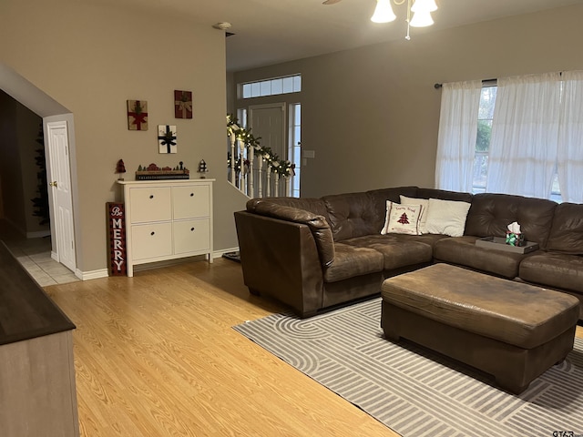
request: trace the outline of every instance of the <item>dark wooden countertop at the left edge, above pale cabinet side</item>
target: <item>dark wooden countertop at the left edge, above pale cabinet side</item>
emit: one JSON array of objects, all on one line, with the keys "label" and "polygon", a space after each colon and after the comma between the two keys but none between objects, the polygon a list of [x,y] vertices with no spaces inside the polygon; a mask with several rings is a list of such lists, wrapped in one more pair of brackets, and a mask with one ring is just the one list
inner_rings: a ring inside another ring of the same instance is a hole
[{"label": "dark wooden countertop at the left edge, above pale cabinet side", "polygon": [[0,241],[0,345],[74,329]]}]

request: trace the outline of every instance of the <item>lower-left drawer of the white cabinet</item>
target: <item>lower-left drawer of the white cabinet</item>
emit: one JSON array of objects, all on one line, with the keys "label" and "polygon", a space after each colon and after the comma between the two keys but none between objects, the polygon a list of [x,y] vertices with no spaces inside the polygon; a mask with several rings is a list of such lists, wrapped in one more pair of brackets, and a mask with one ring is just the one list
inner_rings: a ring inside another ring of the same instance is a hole
[{"label": "lower-left drawer of the white cabinet", "polygon": [[172,224],[168,222],[132,226],[131,249],[133,259],[172,255]]}]

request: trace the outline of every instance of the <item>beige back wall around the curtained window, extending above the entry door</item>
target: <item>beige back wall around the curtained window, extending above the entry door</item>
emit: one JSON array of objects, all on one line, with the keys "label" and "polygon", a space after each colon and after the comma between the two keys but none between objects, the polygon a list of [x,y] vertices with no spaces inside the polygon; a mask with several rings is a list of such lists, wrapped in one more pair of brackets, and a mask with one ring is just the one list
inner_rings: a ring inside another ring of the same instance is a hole
[{"label": "beige back wall around the curtained window, extending above the entry door", "polygon": [[302,196],[433,187],[434,84],[583,69],[582,20],[575,5],[424,36],[413,30],[411,41],[239,72],[234,83],[302,73],[302,147],[316,156],[302,168]]}]

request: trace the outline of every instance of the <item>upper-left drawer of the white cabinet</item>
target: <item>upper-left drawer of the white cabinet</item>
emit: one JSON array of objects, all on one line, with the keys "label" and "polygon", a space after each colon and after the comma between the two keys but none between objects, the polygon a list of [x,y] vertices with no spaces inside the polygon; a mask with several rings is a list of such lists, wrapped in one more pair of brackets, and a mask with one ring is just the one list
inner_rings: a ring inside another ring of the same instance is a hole
[{"label": "upper-left drawer of the white cabinet", "polygon": [[129,188],[129,198],[132,223],[172,219],[169,187]]}]

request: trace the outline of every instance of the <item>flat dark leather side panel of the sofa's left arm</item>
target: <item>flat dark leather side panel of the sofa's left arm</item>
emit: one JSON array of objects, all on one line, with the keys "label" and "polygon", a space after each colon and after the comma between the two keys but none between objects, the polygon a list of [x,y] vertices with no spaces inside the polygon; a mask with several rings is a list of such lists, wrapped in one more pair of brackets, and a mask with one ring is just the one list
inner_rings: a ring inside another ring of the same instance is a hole
[{"label": "flat dark leather side panel of the sofa's left arm", "polygon": [[322,309],[323,272],[312,231],[289,220],[235,212],[245,285],[302,317]]}]

